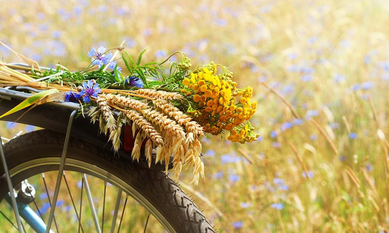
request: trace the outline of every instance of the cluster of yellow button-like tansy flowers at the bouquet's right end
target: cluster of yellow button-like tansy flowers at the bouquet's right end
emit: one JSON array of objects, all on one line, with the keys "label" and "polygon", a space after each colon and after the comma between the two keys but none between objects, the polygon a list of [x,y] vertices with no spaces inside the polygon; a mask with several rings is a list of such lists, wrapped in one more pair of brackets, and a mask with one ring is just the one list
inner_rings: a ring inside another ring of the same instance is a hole
[{"label": "cluster of yellow button-like tansy flowers at the bouquet's right end", "polygon": [[257,102],[250,100],[252,88],[237,89],[237,83],[230,79],[231,72],[226,73],[224,68],[219,75],[216,73],[216,64],[210,63],[182,80],[185,88],[181,91],[193,98],[195,105],[187,113],[204,127],[204,132],[217,135],[230,130],[230,141],[256,140],[259,135],[252,132],[251,124],[243,125],[257,107]]}]

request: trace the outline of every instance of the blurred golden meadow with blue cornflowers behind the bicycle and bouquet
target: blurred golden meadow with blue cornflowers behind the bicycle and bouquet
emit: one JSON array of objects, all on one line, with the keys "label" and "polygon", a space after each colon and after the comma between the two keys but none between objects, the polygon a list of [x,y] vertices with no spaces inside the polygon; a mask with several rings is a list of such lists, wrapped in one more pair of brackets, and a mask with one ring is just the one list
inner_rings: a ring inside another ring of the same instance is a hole
[{"label": "blurred golden meadow with blue cornflowers behind the bicycle and bouquet", "polygon": [[144,62],[180,50],[254,88],[258,141],[204,138],[205,181],[184,186],[219,232],[387,232],[388,1],[0,2],[0,40],[41,66],[81,70],[91,47],[126,40]]}]

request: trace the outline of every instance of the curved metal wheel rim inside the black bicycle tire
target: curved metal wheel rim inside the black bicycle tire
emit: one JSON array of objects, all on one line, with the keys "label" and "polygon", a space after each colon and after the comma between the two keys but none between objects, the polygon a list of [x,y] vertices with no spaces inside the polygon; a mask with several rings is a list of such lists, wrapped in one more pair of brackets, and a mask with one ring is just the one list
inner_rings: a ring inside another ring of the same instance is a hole
[{"label": "curved metal wheel rim inside the black bicycle tire", "polygon": [[[25,172],[26,170],[42,167],[47,165],[59,165],[61,158],[59,157],[46,157],[46,158],[37,158],[33,160],[29,160],[26,162],[23,162],[19,165],[16,165],[12,169],[9,170],[11,177],[15,177],[18,174]],[[53,171],[54,169],[49,169],[45,171],[39,171],[36,172],[36,174],[32,174],[32,176],[37,175],[41,172],[49,172]],[[104,181],[107,181],[111,183],[112,185],[116,186],[117,188],[120,188],[124,191],[124,193],[131,196],[133,199],[135,199],[138,203],[140,203],[146,210],[148,210],[157,220],[158,222],[165,228],[168,232],[176,232],[173,228],[173,226],[163,217],[163,215],[150,203],[144,196],[142,196],[137,190],[135,190],[133,187],[131,187],[129,184],[127,184],[125,181],[120,179],[117,176],[114,176],[113,174],[107,172],[106,170],[97,167],[95,165],[92,165],[87,162],[83,162],[81,160],[76,160],[74,158],[67,158],[65,162],[65,170],[70,171],[76,171],[86,173],[89,175],[92,175],[94,177],[97,177],[99,179],[102,179]],[[29,176],[31,177],[31,176]],[[28,177],[25,177],[23,179],[26,179]]]}]

